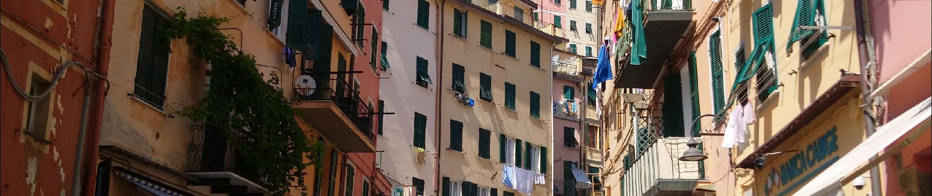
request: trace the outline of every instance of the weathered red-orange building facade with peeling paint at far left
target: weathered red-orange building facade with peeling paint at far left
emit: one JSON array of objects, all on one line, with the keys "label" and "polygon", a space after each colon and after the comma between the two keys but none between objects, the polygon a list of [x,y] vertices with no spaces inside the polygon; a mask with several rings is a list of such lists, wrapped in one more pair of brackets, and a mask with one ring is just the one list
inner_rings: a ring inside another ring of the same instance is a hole
[{"label": "weathered red-orange building facade with peeling paint at far left", "polygon": [[97,151],[106,77],[101,54],[107,46],[98,42],[105,35],[98,32],[103,2],[5,1],[0,7],[0,194],[92,192],[96,159],[88,157]]}]

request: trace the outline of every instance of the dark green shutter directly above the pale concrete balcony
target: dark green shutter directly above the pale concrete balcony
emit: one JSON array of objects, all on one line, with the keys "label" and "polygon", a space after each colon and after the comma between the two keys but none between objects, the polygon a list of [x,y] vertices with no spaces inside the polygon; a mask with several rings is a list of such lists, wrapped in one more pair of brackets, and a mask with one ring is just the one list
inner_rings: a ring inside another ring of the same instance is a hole
[{"label": "dark green shutter directly above the pale concrete balcony", "polygon": [[679,73],[673,73],[664,79],[664,136],[685,137],[683,130],[682,87]]}]

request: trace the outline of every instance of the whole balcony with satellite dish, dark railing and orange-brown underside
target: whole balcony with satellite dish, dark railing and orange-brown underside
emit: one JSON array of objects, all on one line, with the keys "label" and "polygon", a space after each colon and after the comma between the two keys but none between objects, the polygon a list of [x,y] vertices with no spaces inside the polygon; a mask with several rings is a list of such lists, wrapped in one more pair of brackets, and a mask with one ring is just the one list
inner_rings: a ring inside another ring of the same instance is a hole
[{"label": "whole balcony with satellite dish, dark railing and orange-brown underside", "polygon": [[295,109],[337,150],[375,152],[375,112],[360,98],[358,86],[345,82],[345,76],[337,78],[318,81],[313,88],[295,88]]}]

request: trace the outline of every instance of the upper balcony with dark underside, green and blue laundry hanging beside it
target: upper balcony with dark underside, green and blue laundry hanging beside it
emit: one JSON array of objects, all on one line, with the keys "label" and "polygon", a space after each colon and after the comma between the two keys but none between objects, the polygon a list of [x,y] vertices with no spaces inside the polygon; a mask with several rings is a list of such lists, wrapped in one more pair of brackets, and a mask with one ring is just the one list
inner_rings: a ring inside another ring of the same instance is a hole
[{"label": "upper balcony with dark underside, green and blue laundry hanging beside it", "polygon": [[[634,57],[629,55],[616,77],[624,78],[624,80],[617,80],[616,88],[652,88],[664,69],[667,57],[692,23],[691,0],[643,0],[641,9],[646,9],[642,10],[642,16],[647,58],[641,59],[639,65],[632,65],[631,59]],[[637,7],[632,11],[638,12]],[[632,25],[627,25],[627,27],[632,27]],[[637,33],[637,30],[632,29],[629,33]],[[628,38],[622,41],[623,49],[629,49],[634,39]]]}]

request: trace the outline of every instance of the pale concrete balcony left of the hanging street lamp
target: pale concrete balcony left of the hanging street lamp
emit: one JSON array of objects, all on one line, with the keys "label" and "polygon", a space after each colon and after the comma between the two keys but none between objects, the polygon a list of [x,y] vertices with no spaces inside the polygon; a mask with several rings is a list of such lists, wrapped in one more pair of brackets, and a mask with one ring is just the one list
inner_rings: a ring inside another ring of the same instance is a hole
[{"label": "pale concrete balcony left of the hanging street lamp", "polygon": [[[679,155],[688,147],[688,137],[658,138],[646,149],[635,150],[633,164],[622,183],[624,195],[686,196],[702,177],[698,162],[681,162]],[[702,142],[702,138],[697,137]],[[640,151],[640,152],[637,152]]]}]

